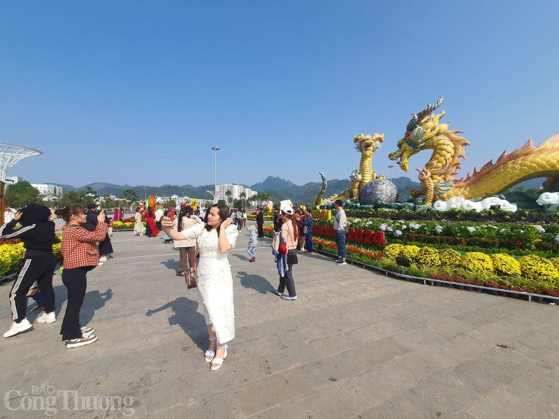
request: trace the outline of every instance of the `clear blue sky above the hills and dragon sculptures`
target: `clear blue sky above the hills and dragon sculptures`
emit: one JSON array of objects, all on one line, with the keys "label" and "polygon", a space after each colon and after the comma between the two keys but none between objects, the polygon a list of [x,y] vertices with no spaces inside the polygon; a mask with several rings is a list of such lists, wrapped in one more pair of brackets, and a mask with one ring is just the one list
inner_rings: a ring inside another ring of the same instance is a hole
[{"label": "clear blue sky above the hills and dragon sculptures", "polygon": [[[358,168],[444,96],[458,177],[559,132],[558,1],[2,1],[10,176],[82,186],[296,184]],[[410,160],[407,176],[430,154]],[[397,166],[393,177],[404,175]]]}]

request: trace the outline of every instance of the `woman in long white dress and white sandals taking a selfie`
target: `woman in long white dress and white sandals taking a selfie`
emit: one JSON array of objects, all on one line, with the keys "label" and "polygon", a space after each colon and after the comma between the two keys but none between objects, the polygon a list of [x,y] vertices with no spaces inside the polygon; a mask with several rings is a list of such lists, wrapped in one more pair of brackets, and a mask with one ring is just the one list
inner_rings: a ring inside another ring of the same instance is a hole
[{"label": "woman in long white dress and white sandals taking a selfie", "polygon": [[205,362],[213,371],[222,367],[227,358],[226,342],[235,337],[233,309],[233,277],[227,260],[228,251],[237,242],[238,230],[231,225],[226,205],[213,205],[208,210],[208,221],[182,231],[172,230],[173,221],[164,218],[161,225],[173,240],[196,240],[200,251],[198,260],[198,291],[202,297],[205,324],[208,327],[210,349],[205,351]]}]

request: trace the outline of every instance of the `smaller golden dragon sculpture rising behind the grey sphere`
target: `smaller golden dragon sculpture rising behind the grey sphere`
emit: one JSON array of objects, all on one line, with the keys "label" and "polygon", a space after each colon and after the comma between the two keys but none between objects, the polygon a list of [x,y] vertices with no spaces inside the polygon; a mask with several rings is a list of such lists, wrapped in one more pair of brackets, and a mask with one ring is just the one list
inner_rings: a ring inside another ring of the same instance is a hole
[{"label": "smaller golden dragon sculpture rising behind the grey sphere", "polygon": [[377,174],[372,170],[372,154],[380,148],[381,142],[383,141],[384,134],[354,135],[355,149],[361,153],[359,170],[351,172],[351,175],[349,175],[349,184],[345,191],[339,195],[331,196],[328,200],[361,200],[361,189],[372,179],[377,179]]}]

